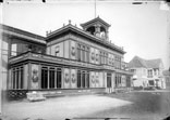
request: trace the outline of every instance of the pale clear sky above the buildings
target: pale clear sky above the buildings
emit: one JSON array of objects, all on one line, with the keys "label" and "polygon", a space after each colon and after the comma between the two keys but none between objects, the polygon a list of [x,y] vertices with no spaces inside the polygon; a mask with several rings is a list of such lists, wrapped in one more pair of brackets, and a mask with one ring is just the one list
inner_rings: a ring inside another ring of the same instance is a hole
[{"label": "pale clear sky above the buildings", "polygon": [[[4,3],[2,24],[27,30],[40,36],[72,24],[80,24],[95,18],[95,2],[53,3]],[[131,2],[108,2],[96,0],[96,16],[111,25],[109,39],[123,46],[124,61],[130,62],[135,55],[154,59],[161,58],[165,69],[170,65],[169,34],[170,11],[160,10],[159,2],[131,4]]]}]

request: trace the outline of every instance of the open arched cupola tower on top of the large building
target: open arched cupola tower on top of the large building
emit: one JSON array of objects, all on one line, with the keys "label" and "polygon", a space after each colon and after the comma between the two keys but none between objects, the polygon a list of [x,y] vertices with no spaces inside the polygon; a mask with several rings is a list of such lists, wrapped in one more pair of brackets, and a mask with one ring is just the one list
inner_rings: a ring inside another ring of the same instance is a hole
[{"label": "open arched cupola tower on top of the large building", "polygon": [[109,40],[109,27],[110,25],[102,21],[99,16],[86,22],[84,24],[81,24],[83,29],[87,32],[89,32],[93,36],[99,37],[104,40]]}]

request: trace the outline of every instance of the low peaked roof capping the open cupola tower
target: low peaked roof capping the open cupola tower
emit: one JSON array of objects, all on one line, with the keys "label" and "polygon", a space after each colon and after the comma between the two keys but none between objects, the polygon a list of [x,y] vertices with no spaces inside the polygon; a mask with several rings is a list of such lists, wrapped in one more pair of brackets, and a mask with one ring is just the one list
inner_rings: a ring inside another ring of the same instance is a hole
[{"label": "low peaked roof capping the open cupola tower", "polygon": [[92,21],[88,21],[88,22],[86,22],[86,23],[84,23],[84,24],[81,24],[81,26],[84,27],[84,26],[86,26],[86,25],[89,25],[89,24],[96,23],[96,22],[99,22],[99,23],[104,24],[104,25],[107,26],[107,27],[110,27],[110,26],[111,26],[111,25],[109,25],[108,23],[106,23],[104,19],[101,19],[99,16],[96,17],[96,18],[94,18],[94,19],[92,19]]}]

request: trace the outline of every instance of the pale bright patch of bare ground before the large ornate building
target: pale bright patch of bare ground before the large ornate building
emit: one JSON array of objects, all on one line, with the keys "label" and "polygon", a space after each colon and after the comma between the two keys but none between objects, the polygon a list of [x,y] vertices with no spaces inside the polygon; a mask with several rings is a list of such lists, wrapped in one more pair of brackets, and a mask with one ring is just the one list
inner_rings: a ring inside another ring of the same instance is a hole
[{"label": "pale bright patch of bare ground before the large ornate building", "polygon": [[62,96],[34,103],[8,102],[2,105],[2,114],[5,120],[65,120],[130,104],[133,103],[99,95]]}]

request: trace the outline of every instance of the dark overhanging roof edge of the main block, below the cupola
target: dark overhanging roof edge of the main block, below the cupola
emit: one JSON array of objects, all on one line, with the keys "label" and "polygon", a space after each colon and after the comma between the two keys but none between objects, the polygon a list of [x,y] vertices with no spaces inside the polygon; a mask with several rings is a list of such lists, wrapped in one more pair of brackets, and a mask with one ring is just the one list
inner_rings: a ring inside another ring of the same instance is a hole
[{"label": "dark overhanging roof edge of the main block, below the cupola", "polygon": [[46,41],[48,42],[48,41],[51,40],[52,38],[54,38],[54,37],[57,37],[57,36],[60,36],[61,34],[68,32],[68,31],[72,31],[72,32],[75,32],[75,34],[81,35],[81,36],[83,36],[83,37],[86,37],[86,38],[88,38],[89,40],[92,40],[92,41],[94,41],[94,42],[104,44],[104,45],[106,45],[107,48],[110,48],[110,49],[112,49],[112,50],[114,50],[114,51],[118,51],[118,52],[120,52],[120,53],[122,53],[122,54],[125,53],[125,51],[124,51],[122,48],[120,48],[120,46],[118,46],[118,45],[116,45],[116,44],[113,44],[113,43],[110,43],[109,41],[104,41],[101,38],[96,37],[96,36],[93,36],[93,35],[90,35],[90,34],[88,34],[88,32],[82,30],[81,28],[77,28],[76,26],[73,26],[72,24],[69,24],[69,25],[66,25],[66,26],[63,26],[62,28],[59,28],[59,29],[57,29],[57,30],[54,30],[54,31],[48,34],[48,36],[47,36],[47,38],[46,38]]}]

